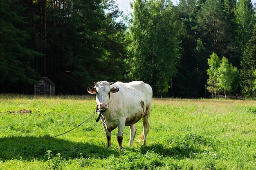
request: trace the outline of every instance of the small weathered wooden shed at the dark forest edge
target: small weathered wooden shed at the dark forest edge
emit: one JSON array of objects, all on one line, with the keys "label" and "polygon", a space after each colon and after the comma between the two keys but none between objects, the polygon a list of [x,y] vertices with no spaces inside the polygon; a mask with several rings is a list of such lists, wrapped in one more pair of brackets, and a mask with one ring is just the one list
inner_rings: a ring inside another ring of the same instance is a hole
[{"label": "small weathered wooden shed at the dark forest edge", "polygon": [[48,79],[48,77],[41,77],[41,79],[34,85],[35,95],[55,95],[55,84]]}]

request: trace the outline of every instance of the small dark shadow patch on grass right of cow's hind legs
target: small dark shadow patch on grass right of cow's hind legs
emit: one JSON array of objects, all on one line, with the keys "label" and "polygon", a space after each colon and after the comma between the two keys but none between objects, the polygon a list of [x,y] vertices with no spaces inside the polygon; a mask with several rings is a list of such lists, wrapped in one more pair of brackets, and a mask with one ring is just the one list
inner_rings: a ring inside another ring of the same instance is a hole
[{"label": "small dark shadow patch on grass right of cow's hind legs", "polygon": [[191,154],[198,153],[199,149],[190,147],[166,147],[162,144],[154,144],[151,146],[141,146],[141,153],[145,154],[148,151],[153,151],[163,157],[173,157],[175,159],[184,159],[191,157]]}]

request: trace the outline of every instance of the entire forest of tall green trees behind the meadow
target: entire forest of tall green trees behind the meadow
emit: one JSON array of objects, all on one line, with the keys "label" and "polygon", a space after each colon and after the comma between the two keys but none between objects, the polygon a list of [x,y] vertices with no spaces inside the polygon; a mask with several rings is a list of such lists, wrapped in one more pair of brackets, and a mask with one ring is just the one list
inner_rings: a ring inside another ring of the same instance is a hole
[{"label": "entire forest of tall green trees behind the meadow", "polygon": [[0,93],[92,81],[149,83],[155,97],[256,97],[251,0],[1,0]]}]

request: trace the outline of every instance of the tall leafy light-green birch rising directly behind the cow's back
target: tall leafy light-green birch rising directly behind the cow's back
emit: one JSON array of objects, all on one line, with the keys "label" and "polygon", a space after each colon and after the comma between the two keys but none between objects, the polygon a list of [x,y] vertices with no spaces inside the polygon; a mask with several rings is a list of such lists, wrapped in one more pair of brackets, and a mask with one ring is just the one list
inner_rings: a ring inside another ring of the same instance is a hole
[{"label": "tall leafy light-green birch rising directly behind the cow's back", "polygon": [[177,73],[179,29],[171,1],[133,2],[129,76],[150,83],[154,95],[166,94],[168,83]]}]

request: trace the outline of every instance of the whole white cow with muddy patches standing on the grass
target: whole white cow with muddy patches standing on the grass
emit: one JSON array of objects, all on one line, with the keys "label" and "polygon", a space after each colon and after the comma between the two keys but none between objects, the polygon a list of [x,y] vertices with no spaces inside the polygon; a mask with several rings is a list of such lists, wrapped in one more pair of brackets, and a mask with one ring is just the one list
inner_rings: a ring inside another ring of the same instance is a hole
[{"label": "whole white cow with muddy patches standing on the grass", "polygon": [[[142,118],[141,141],[146,145],[149,131],[149,117],[152,105],[152,88],[143,81],[130,83],[99,81],[88,87],[90,94],[96,94],[97,111],[106,132],[107,147],[111,145],[111,131],[118,127],[117,142],[122,148],[125,126],[130,128],[129,146],[132,146],[136,133],[136,123]],[[98,119],[99,119],[98,118]]]}]

